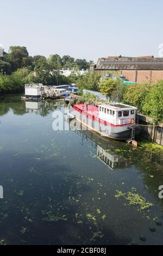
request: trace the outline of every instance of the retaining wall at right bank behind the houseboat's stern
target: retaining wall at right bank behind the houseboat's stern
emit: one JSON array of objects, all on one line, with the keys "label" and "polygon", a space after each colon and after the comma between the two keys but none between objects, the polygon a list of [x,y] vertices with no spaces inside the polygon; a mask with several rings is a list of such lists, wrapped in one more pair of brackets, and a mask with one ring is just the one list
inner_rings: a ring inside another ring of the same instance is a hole
[{"label": "retaining wall at right bank behind the houseboat's stern", "polygon": [[137,120],[139,121],[139,124],[149,125],[141,126],[140,136],[147,138],[152,142],[156,142],[159,145],[163,145],[163,124],[160,124],[158,127],[150,126],[153,119],[141,114],[137,114]]}]

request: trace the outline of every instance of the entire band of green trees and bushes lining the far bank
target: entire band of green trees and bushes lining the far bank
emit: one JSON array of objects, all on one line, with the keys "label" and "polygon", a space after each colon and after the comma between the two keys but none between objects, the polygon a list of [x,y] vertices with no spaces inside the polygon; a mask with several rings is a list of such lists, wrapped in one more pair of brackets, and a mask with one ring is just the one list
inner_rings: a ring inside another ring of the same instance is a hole
[{"label": "entire band of green trees and bushes lining the far bank", "polygon": [[[89,70],[92,61],[74,59],[65,55],[52,54],[29,56],[26,47],[11,46],[9,53],[0,57],[0,94],[23,92],[25,83],[43,83],[60,85],[76,83],[79,94],[83,89],[95,90],[106,95],[111,101],[118,101],[136,106],[138,112],[163,121],[163,81],[149,81],[141,84],[124,85],[120,78],[109,77],[101,81],[96,72]],[[69,76],[62,74],[62,69],[71,69]],[[79,70],[88,69],[81,74]],[[83,101],[95,101],[95,96],[84,95]],[[81,101],[81,100],[80,100]]]}]

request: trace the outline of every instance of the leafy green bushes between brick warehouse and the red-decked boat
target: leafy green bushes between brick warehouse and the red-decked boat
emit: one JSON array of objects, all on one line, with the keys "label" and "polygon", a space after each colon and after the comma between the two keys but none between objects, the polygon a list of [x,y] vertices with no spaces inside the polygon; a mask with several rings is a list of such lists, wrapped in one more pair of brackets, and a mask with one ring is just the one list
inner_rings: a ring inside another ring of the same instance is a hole
[{"label": "leafy green bushes between brick warehouse and the red-decked boat", "polygon": [[138,112],[163,121],[163,81],[149,81],[125,86],[122,80],[106,78],[99,82],[99,91],[112,101],[136,106]]}]

